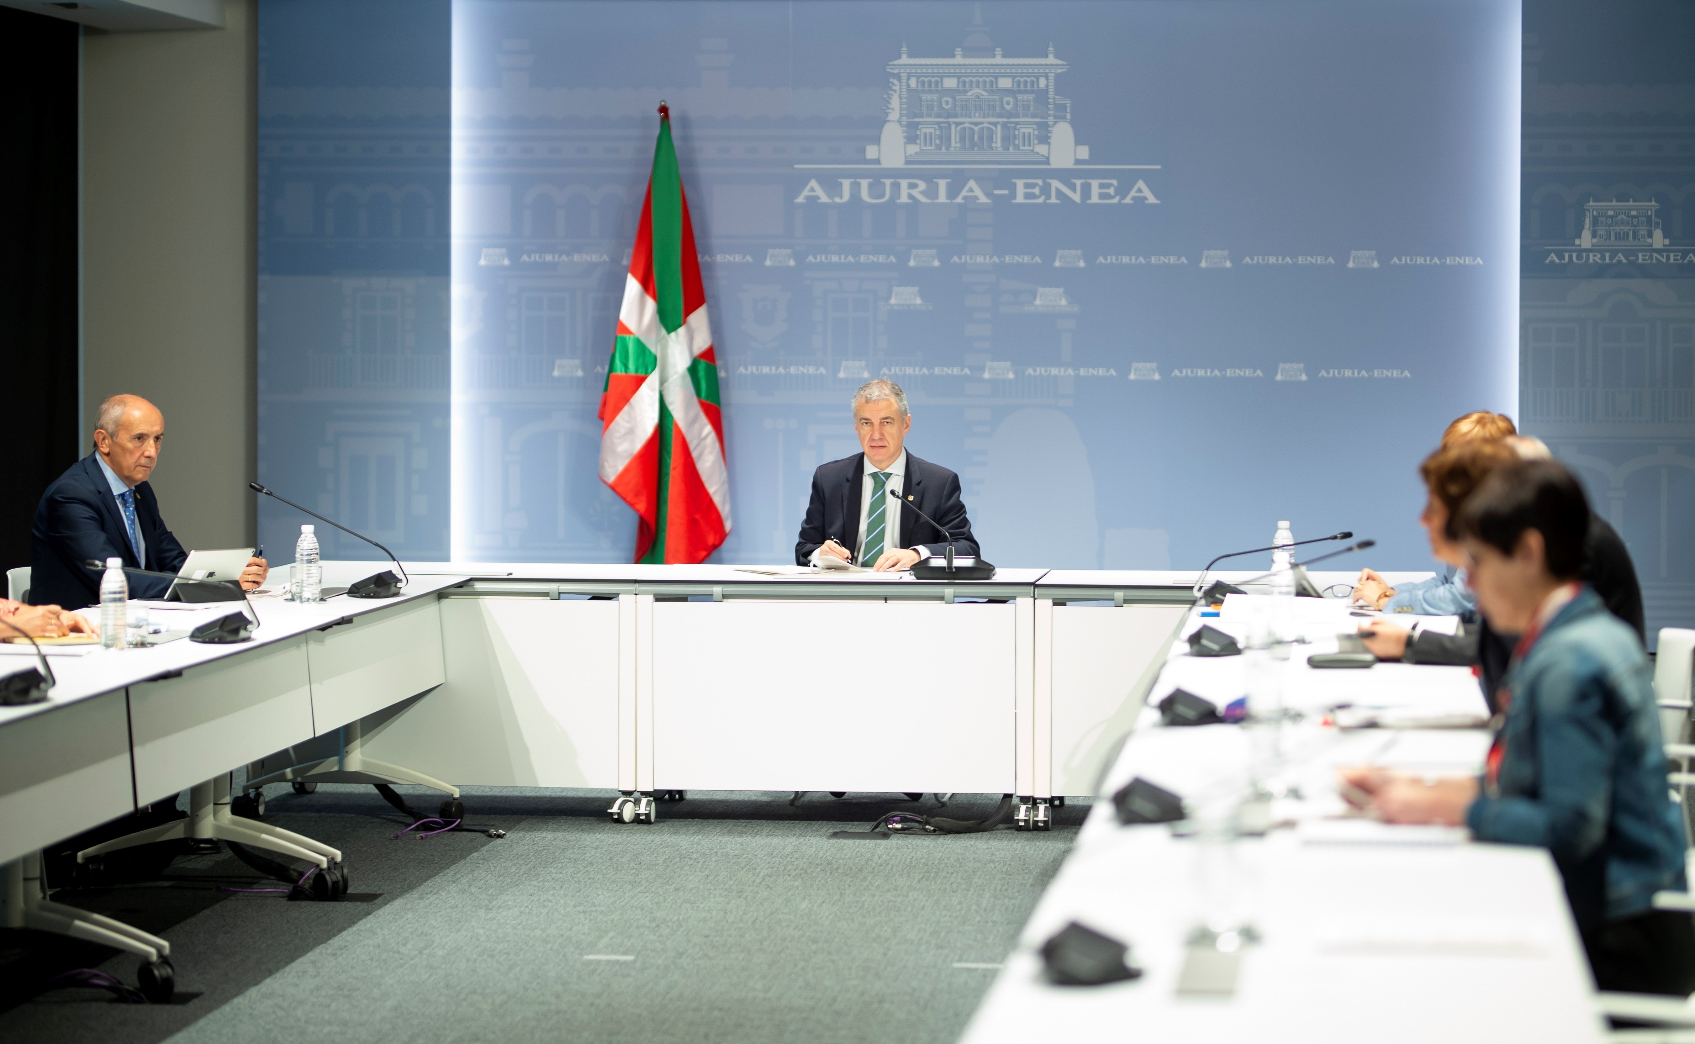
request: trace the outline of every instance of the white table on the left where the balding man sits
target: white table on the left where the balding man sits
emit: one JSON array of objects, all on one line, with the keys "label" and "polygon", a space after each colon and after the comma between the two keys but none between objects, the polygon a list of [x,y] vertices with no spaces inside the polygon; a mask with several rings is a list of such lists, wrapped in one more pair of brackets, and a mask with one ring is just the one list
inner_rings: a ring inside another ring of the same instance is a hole
[{"label": "white table on the left where the balding man sits", "polygon": [[[436,595],[458,580],[419,576],[380,602],[254,598],[253,641],[227,646],[47,646],[47,702],[0,707],[0,863],[434,688]],[[17,646],[0,658],[32,664]]]}]

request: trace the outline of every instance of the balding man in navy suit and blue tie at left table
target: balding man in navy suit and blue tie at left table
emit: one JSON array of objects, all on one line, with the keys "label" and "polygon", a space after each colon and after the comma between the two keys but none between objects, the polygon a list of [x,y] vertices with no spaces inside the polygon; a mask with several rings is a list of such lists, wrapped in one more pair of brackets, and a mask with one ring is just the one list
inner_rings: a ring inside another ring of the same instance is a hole
[{"label": "balding man in navy suit and blue tie at left table", "polygon": [[[93,605],[100,575],[85,561],[124,559],[125,566],[175,573],[188,559],[159,517],[147,476],[159,463],[164,415],[139,395],[114,395],[100,403],[95,451],[71,464],[36,507],[31,529],[29,600],[36,605]],[[264,583],[264,559],[241,575],[253,590]],[[129,576],[131,598],[163,598],[171,581]]]}]

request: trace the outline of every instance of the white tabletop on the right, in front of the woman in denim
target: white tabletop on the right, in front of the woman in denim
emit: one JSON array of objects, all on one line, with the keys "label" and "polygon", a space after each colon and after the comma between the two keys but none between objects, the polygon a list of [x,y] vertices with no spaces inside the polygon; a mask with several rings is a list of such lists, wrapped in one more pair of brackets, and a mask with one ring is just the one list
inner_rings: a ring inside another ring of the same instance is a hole
[{"label": "white tabletop on the right, in front of the woman in denim", "polygon": [[[1241,634],[1239,619],[1190,617]],[[1341,617],[1339,617],[1341,620]],[[1342,810],[1336,766],[1478,771],[1481,729],[1351,729],[1322,722],[1336,703],[1446,717],[1487,714],[1464,668],[1378,664],[1317,671],[1297,647],[1283,703],[1309,717],[1283,730],[1273,817],[1263,837],[1207,844],[1168,825],[1117,822],[1110,795],[1144,778],[1197,803],[1249,786],[1249,734],[1234,725],[1163,727],[1173,688],[1225,703],[1246,688],[1244,658],[1203,659],[1175,642],[1064,864],[971,1019],[964,1044],[1095,1041],[1600,1041],[1593,980],[1559,873],[1542,849],[1466,842],[1454,832],[1329,819]],[[1261,747],[1263,751],[1263,747]],[[1263,763],[1261,763],[1263,764]],[[1225,910],[1261,941],[1241,951],[1232,995],[1178,993],[1190,932]],[[1142,978],[1056,986],[1041,946],[1081,922],[1132,947]]]}]

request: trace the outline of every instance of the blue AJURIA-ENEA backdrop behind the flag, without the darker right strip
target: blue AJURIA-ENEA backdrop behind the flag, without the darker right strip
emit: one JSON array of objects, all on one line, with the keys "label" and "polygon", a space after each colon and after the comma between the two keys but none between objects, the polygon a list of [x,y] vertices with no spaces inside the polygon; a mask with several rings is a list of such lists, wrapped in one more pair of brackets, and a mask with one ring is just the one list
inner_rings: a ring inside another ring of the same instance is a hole
[{"label": "blue AJURIA-ENEA backdrop behind the flag, without the darker right strip", "polygon": [[1292,519],[1422,568],[1417,461],[1517,403],[1519,36],[1515,0],[273,0],[261,473],[415,558],[627,561],[595,407],[664,98],[720,561],[790,559],[892,376],[998,564]]}]

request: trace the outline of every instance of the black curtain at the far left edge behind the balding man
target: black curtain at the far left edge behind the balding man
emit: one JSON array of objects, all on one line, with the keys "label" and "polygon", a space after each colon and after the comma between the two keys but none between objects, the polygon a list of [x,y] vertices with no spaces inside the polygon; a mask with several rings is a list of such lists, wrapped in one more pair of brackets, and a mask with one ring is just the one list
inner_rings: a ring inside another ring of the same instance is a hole
[{"label": "black curtain at the far left edge behind the balding man", "polygon": [[29,564],[36,502],[78,458],[76,34],[0,7],[0,569]]}]

